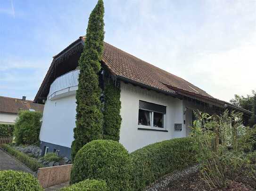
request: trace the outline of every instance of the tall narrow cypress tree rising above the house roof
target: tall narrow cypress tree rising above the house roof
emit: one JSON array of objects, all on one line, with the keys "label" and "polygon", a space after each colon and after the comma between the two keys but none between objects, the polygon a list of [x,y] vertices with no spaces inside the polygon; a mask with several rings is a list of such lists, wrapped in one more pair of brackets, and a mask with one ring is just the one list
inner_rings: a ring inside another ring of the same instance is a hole
[{"label": "tall narrow cypress tree rising above the house roof", "polygon": [[100,60],[104,40],[104,4],[99,0],[92,10],[86,30],[83,53],[78,62],[80,74],[76,91],[76,127],[72,143],[72,159],[91,140],[103,137],[103,115],[99,87]]}]

